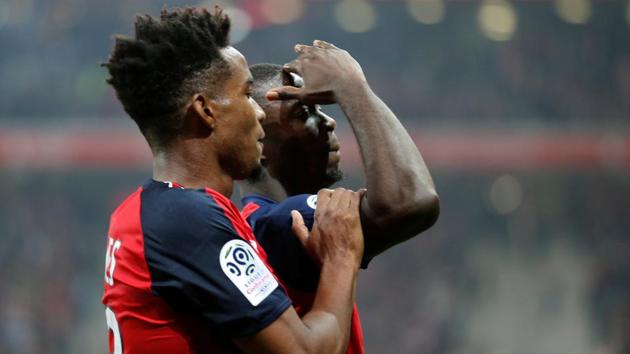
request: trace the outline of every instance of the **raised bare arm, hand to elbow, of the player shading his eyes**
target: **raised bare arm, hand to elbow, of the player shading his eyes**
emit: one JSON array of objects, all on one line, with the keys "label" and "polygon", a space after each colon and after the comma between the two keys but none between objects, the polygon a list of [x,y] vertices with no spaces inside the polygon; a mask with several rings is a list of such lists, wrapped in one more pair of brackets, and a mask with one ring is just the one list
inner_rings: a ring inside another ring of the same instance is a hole
[{"label": "raised bare arm, hand to elbow, of the player shading his eyes", "polygon": [[304,77],[303,88],[282,87],[269,99],[306,104],[337,102],[357,139],[368,193],[361,203],[366,258],[428,229],[439,215],[431,174],[394,113],[372,92],[360,65],[330,43],[296,46],[299,56],[285,66]]}]

